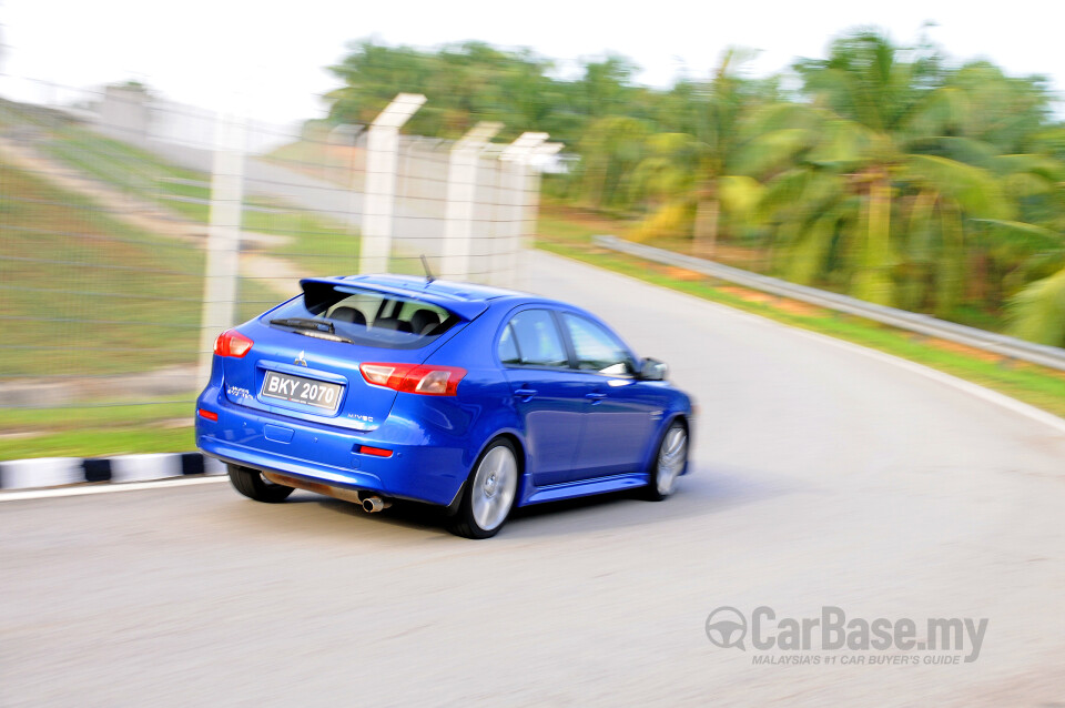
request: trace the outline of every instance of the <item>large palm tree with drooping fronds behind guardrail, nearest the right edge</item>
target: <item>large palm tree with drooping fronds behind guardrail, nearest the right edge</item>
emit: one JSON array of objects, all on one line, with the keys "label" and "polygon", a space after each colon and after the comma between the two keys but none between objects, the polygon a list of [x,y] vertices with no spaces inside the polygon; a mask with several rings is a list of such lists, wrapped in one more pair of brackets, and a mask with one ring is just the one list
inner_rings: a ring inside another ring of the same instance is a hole
[{"label": "large palm tree with drooping fronds behind guardrail, nearest the right edge", "polygon": [[861,31],[834,42],[828,59],[795,65],[821,139],[799,174],[771,185],[768,205],[791,204],[780,235],[797,261],[784,270],[799,280],[945,314],[962,294],[965,220],[1013,214],[990,171],[921,150],[944,72],[927,47],[901,54]]}]

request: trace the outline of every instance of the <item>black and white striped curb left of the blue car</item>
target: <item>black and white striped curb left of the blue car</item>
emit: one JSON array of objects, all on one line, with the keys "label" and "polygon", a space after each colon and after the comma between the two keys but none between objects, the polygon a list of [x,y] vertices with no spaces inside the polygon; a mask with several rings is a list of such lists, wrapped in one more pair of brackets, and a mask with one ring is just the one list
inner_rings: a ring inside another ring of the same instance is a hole
[{"label": "black and white striped curb left of the blue car", "polygon": [[8,459],[0,462],[0,489],[59,487],[83,482],[145,482],[224,473],[225,465],[201,453]]}]

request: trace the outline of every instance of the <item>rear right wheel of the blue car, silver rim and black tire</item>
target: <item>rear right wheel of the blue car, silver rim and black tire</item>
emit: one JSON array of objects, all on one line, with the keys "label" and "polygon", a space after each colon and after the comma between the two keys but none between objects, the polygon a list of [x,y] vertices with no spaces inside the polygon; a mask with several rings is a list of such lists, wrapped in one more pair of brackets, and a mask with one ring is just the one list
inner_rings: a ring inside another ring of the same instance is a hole
[{"label": "rear right wheel of the blue car, silver rim and black tire", "polygon": [[463,502],[448,525],[456,536],[490,538],[499,533],[518,493],[518,453],[499,437],[481,453],[463,488]]}]

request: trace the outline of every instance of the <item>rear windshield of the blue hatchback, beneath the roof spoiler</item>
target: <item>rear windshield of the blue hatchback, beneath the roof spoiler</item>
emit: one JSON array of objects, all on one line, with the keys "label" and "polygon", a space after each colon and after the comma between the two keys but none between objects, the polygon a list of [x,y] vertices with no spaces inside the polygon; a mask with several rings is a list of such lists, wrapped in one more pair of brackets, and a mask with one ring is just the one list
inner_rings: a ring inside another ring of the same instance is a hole
[{"label": "rear windshield of the blue hatchback, beneath the roof spoiler", "polygon": [[463,322],[422,300],[327,283],[307,283],[302,296],[264,320],[300,334],[396,350],[425,346]]}]

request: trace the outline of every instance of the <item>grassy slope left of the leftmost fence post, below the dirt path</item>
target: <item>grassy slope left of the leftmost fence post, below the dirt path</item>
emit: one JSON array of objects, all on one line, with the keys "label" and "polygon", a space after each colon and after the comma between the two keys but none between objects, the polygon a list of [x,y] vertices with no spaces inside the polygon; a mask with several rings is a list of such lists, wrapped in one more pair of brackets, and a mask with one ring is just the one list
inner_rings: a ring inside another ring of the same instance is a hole
[{"label": "grassy slope left of the leftmost fence post, below the dirt path", "polygon": [[195,361],[203,253],[0,162],[0,376]]}]

